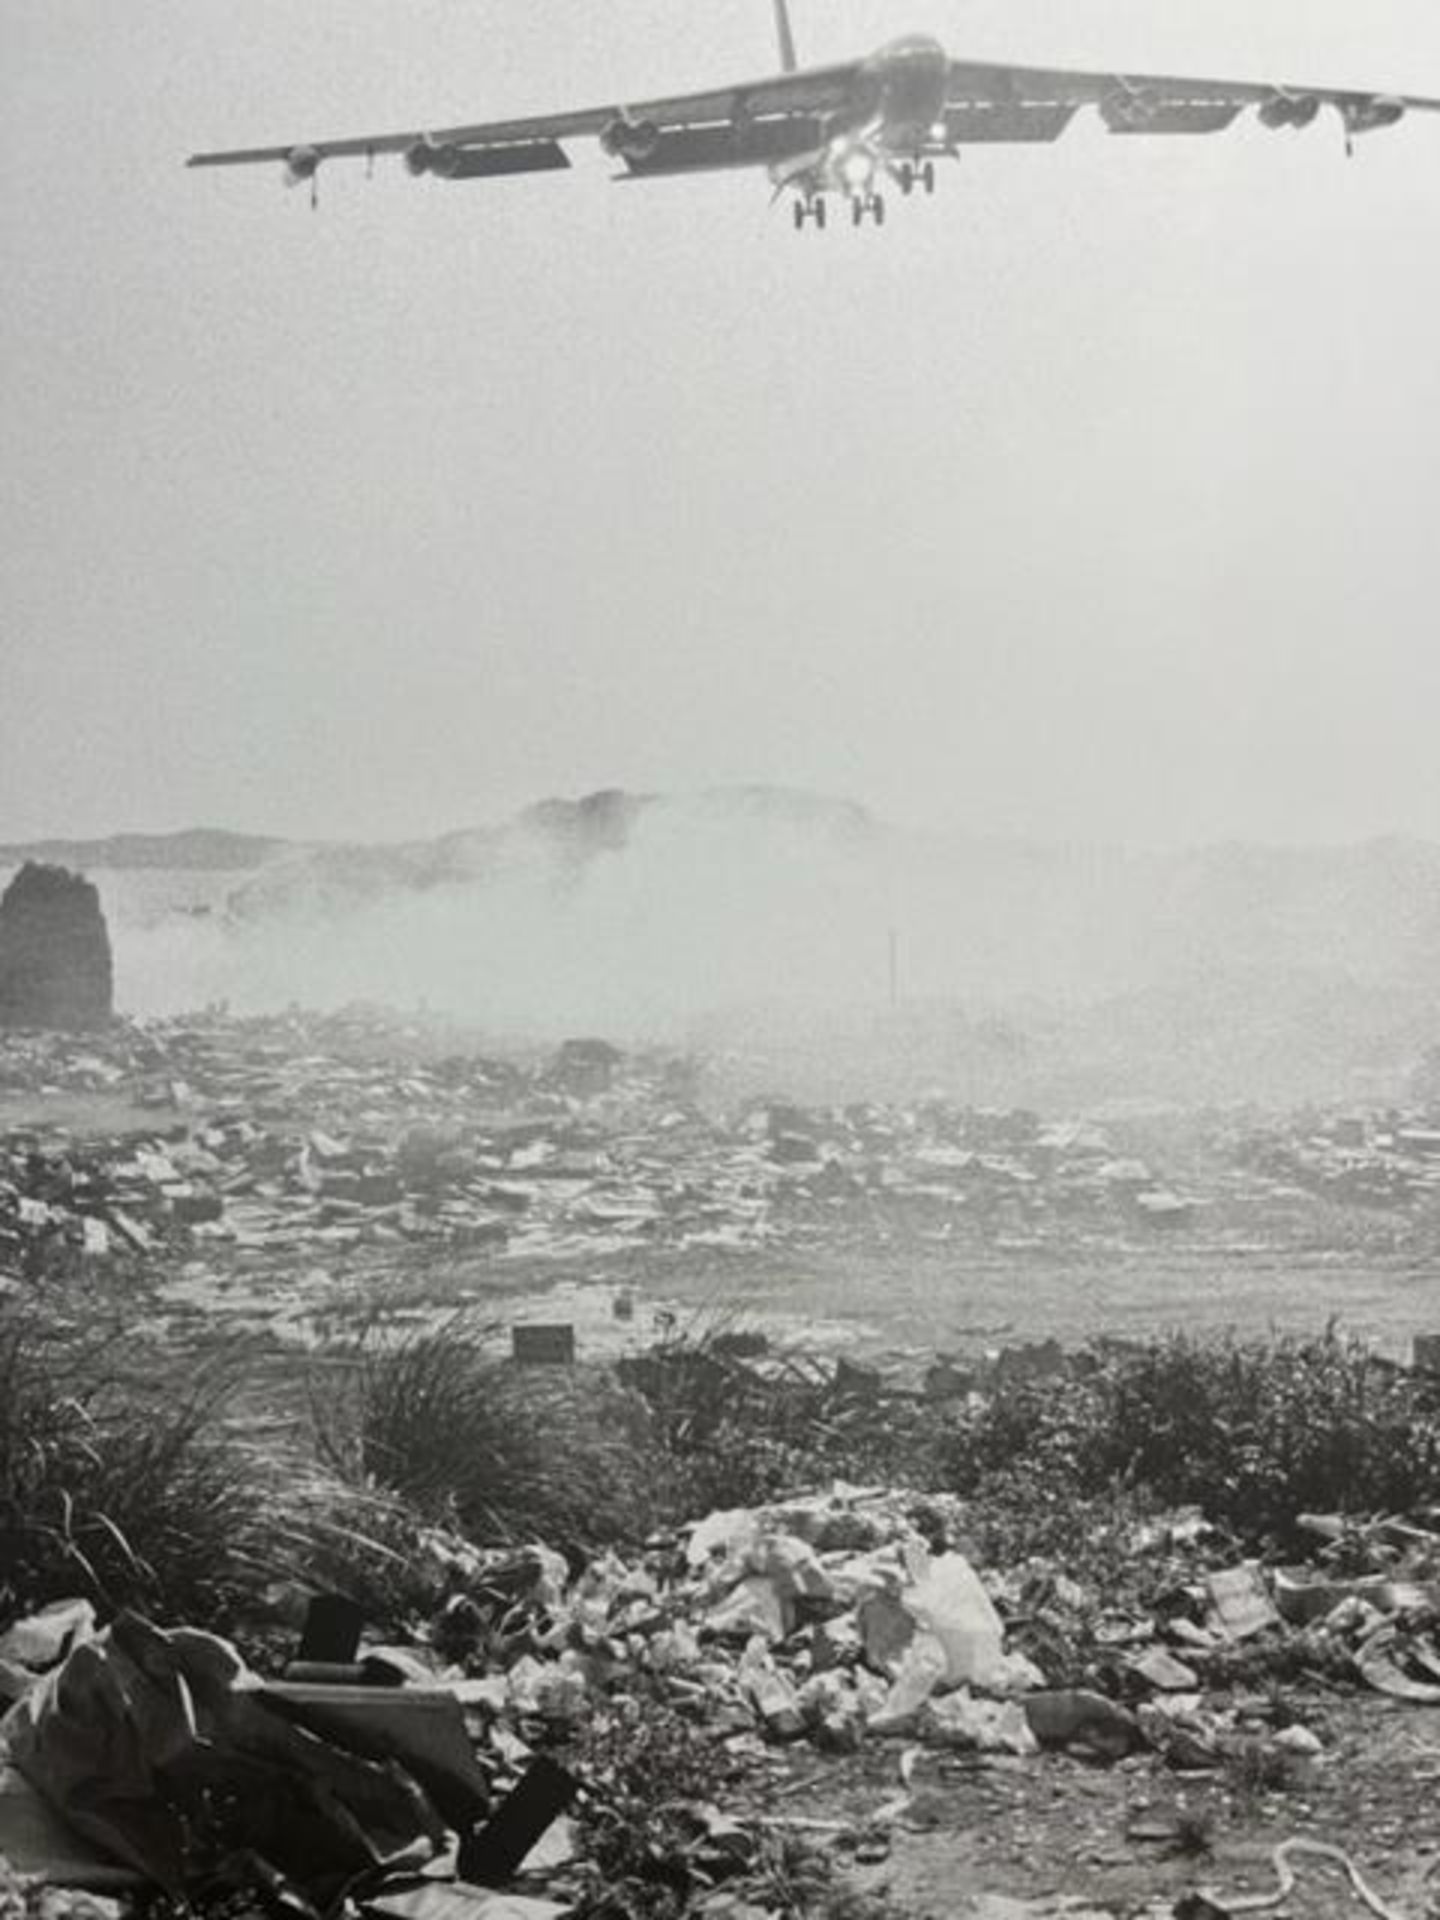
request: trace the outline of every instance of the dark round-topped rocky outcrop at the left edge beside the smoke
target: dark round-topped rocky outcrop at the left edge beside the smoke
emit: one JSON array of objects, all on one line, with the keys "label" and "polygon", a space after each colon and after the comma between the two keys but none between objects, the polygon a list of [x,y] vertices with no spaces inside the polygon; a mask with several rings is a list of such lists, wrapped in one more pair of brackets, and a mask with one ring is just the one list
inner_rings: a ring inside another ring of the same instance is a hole
[{"label": "dark round-topped rocky outcrop at the left edge beside the smoke", "polygon": [[27,860],[0,899],[0,1027],[104,1027],[113,964],[100,895],[63,866]]}]

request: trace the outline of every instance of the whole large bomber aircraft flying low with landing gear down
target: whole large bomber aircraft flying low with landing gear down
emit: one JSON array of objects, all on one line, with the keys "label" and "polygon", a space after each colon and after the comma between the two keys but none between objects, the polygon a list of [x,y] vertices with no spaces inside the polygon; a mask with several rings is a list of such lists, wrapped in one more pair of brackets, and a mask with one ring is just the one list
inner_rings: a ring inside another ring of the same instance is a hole
[{"label": "whole large bomber aircraft flying low with landing gear down", "polygon": [[891,40],[866,60],[801,67],[789,0],[774,6],[781,71],[749,84],[474,127],[194,154],[188,165],[273,161],[290,184],[309,180],[313,200],[326,159],[399,154],[413,175],[492,180],[561,171],[570,165],[564,142],[593,138],[620,161],[620,179],[762,167],[774,198],[793,196],[799,230],[808,223],[824,228],[831,198],[849,202],[856,227],[866,219],[881,225],[887,182],[902,194],[933,194],[937,161],[975,142],[1058,140],[1083,108],[1096,108],[1104,125],[1121,134],[1221,132],[1250,108],[1265,127],[1298,129],[1332,108],[1348,150],[1356,134],[1394,127],[1407,111],[1440,109],[1440,100],[1344,86],[950,60],[925,35]]}]

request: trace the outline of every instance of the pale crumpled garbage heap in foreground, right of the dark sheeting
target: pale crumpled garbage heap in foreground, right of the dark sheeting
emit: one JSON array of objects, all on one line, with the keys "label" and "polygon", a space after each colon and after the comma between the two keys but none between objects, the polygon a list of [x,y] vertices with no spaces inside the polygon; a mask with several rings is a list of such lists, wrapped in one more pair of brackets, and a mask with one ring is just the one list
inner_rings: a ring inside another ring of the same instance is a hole
[{"label": "pale crumpled garbage heap in foreground, right of the dark sheeting", "polygon": [[[1309,1574],[1213,1565],[1212,1530],[1175,1513],[1137,1524],[1129,1559],[1154,1599],[1116,1615],[1110,1596],[1054,1565],[977,1572],[966,1524],[948,1496],[835,1486],[714,1513],[676,1559],[609,1555],[566,1580],[536,1549],[534,1603],[509,1615],[499,1663],[470,1597],[484,1557],[461,1555],[436,1638],[463,1644],[470,1622],[488,1663],[470,1699],[513,1730],[584,1715],[645,1674],[718,1732],[833,1753],[906,1736],[1010,1755],[1148,1747],[1181,1768],[1219,1766],[1248,1730],[1233,1707],[1204,1707],[1206,1693],[1296,1638],[1323,1670],[1440,1699],[1440,1532],[1382,1523],[1365,1538],[1392,1569],[1334,1580],[1323,1563]],[[1294,1728],[1275,1738],[1317,1751]]]}]

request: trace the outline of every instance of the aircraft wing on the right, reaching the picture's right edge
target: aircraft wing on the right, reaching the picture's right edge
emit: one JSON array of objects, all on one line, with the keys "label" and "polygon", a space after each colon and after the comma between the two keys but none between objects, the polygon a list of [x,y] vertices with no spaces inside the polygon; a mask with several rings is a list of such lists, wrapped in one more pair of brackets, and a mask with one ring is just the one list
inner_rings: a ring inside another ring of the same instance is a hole
[{"label": "aircraft wing on the right, reaching the picture's right edge", "polygon": [[1413,94],[954,60],[945,134],[950,144],[1054,140],[1081,108],[1098,108],[1112,132],[1127,134],[1221,132],[1246,108],[1267,127],[1308,127],[1327,106],[1338,109],[1348,134],[1392,127],[1407,111],[1440,111],[1440,100]]}]

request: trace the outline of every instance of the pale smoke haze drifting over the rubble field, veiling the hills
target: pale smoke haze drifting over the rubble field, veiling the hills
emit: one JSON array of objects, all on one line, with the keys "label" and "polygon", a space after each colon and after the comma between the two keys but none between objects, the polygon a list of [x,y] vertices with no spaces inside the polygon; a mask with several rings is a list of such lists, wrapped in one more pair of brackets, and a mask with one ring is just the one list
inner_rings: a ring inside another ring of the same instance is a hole
[{"label": "pale smoke haze drifting over the rubble field, veiling the hills", "polygon": [[1044,847],[778,789],[225,843],[225,866],[194,864],[200,839],[169,866],[165,841],[123,866],[63,849],[100,883],[127,1012],[369,1000],[497,1043],[743,1044],[856,1092],[1238,1098],[1392,1091],[1440,983],[1440,849],[1419,841]]}]

